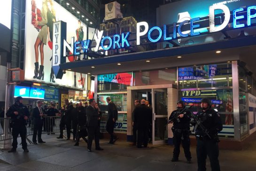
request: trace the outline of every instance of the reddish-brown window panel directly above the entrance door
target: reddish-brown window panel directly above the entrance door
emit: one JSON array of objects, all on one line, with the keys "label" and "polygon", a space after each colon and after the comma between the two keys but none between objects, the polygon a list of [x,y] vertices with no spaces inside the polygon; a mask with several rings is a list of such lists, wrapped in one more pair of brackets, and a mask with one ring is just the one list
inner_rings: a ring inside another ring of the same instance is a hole
[{"label": "reddish-brown window panel directly above the entrance door", "polygon": [[152,70],[152,71],[136,71],[134,72],[134,86],[142,85],[159,85],[159,84],[176,84],[177,70],[176,68]]}]

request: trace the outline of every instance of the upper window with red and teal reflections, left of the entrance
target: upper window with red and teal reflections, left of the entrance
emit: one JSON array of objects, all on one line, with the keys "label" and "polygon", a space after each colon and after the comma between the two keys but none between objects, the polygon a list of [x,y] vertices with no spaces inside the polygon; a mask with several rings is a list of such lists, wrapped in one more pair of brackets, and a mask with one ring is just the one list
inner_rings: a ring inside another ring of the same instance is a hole
[{"label": "upper window with red and teal reflections, left of the entrance", "polygon": [[98,75],[98,92],[126,91],[132,82],[132,73]]}]

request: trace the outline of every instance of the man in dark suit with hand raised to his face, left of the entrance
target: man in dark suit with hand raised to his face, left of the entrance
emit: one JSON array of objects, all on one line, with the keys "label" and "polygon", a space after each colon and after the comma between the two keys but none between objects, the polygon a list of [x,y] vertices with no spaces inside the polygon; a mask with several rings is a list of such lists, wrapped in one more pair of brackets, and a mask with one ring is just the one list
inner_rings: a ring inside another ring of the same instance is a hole
[{"label": "man in dark suit with hand raised to his face, left of the entrance", "polygon": [[86,115],[87,115],[87,129],[88,129],[88,143],[87,143],[87,148],[88,151],[92,151],[92,143],[93,143],[93,138],[95,141],[95,149],[96,150],[103,150],[100,147],[100,127],[98,124],[98,118],[99,118],[99,113],[98,109],[95,108],[95,100],[90,99],[89,100],[89,106],[86,107]]}]

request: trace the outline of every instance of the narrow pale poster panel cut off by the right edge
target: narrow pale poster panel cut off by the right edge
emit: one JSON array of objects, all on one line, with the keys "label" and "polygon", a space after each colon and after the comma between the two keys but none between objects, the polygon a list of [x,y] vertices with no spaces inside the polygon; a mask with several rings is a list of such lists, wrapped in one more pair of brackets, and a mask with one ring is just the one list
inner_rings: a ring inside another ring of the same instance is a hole
[{"label": "narrow pale poster panel cut off by the right edge", "polygon": [[256,97],[248,94],[249,133],[256,131]]}]

